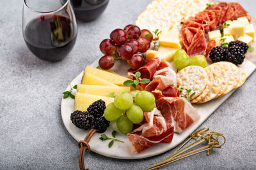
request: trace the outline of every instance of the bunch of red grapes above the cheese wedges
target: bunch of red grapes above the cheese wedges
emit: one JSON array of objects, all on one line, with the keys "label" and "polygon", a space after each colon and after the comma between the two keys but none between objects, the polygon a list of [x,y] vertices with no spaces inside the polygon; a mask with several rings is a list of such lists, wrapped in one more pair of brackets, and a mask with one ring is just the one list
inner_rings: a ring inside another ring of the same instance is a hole
[{"label": "bunch of red grapes above the cheese wedges", "polygon": [[[147,36],[146,36],[147,35]],[[145,63],[143,52],[150,48],[153,39],[147,29],[136,25],[127,25],[124,29],[115,29],[110,39],[100,43],[100,51],[104,54],[99,60],[102,69],[110,69],[115,65],[115,59],[127,60],[132,69],[138,69]]]}]

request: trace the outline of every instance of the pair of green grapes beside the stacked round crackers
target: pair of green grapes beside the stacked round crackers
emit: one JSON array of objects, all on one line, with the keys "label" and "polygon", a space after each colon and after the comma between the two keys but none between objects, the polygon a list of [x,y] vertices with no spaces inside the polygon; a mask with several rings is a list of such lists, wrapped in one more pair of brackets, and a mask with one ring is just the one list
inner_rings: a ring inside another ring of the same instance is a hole
[{"label": "pair of green grapes beside the stacked round crackers", "polygon": [[182,69],[187,66],[207,66],[207,60],[204,55],[195,55],[189,58],[188,54],[184,50],[177,50],[174,53],[174,64],[177,69]]}]

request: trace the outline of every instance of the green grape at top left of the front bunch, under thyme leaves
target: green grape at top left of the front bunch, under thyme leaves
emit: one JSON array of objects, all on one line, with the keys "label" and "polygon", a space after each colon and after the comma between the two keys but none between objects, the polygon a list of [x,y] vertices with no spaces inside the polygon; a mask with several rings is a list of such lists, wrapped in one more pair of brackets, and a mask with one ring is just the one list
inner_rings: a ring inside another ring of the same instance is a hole
[{"label": "green grape at top left of the front bunch, under thyme leaves", "polygon": [[114,103],[116,108],[120,110],[127,110],[131,108],[133,103],[133,98],[131,94],[129,94],[128,92],[120,92],[116,95],[114,99]]}]

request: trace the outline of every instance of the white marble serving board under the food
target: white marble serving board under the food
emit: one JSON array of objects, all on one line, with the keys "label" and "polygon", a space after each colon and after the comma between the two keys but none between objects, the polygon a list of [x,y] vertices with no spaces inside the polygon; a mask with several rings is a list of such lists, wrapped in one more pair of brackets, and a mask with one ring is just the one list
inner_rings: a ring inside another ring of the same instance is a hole
[{"label": "white marble serving board under the food", "polygon": [[[95,60],[93,64],[91,64],[93,67],[98,66],[98,60]],[[245,60],[243,64],[240,66],[244,69],[246,72],[246,76],[250,76],[250,74],[253,73],[256,69],[256,65],[250,62],[249,60]],[[123,76],[127,75],[127,69],[129,69],[129,66],[124,61],[116,61],[115,66],[111,69],[115,71],[118,74],[121,74]],[[81,78],[83,76],[83,72],[80,73],[74,80],[72,80],[71,84],[72,86],[81,83]],[[240,87],[240,88],[243,88]],[[70,90],[70,87],[68,86],[66,90]],[[74,90],[75,92],[75,90]],[[227,95],[220,97],[218,99],[214,99],[208,103],[204,104],[193,104],[195,106],[196,110],[198,110],[198,113],[200,114],[201,118],[197,122],[194,122],[194,124],[190,125],[184,132],[181,134],[174,134],[172,143],[159,143],[157,145],[152,146],[151,148],[148,148],[147,150],[136,153],[134,152],[134,148],[129,142],[129,139],[127,138],[126,134],[123,134],[122,132],[118,131],[115,122],[111,123],[110,127],[107,129],[106,132],[104,132],[107,136],[111,136],[111,132],[113,130],[117,131],[118,134],[116,135],[116,138],[124,141],[124,143],[115,142],[114,145],[111,148],[108,148],[109,140],[107,141],[101,141],[100,134],[95,133],[90,140],[90,148],[93,152],[99,153],[100,155],[104,155],[106,157],[113,157],[116,159],[142,159],[146,157],[152,157],[154,155],[159,155],[160,153],[166,152],[168,150],[171,150],[175,146],[179,145],[184,141],[188,136],[194,132],[208,117],[211,116],[211,114],[234,92],[232,90]],[[71,134],[71,136],[76,139],[76,141],[83,140],[86,136],[88,131],[84,131],[82,129],[78,129],[75,125],[72,124],[70,121],[70,114],[74,111],[74,99],[71,99],[68,97],[67,99],[62,99],[61,101],[61,117],[63,120],[63,123],[65,127],[67,128],[67,131]]]}]

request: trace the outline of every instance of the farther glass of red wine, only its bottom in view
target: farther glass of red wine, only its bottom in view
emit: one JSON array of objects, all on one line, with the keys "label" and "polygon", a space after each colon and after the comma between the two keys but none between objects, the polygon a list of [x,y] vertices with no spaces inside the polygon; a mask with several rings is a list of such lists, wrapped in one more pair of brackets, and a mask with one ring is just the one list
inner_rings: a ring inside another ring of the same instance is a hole
[{"label": "farther glass of red wine, only its bottom in view", "polygon": [[83,22],[96,20],[108,6],[109,0],[71,0],[76,18]]}]

